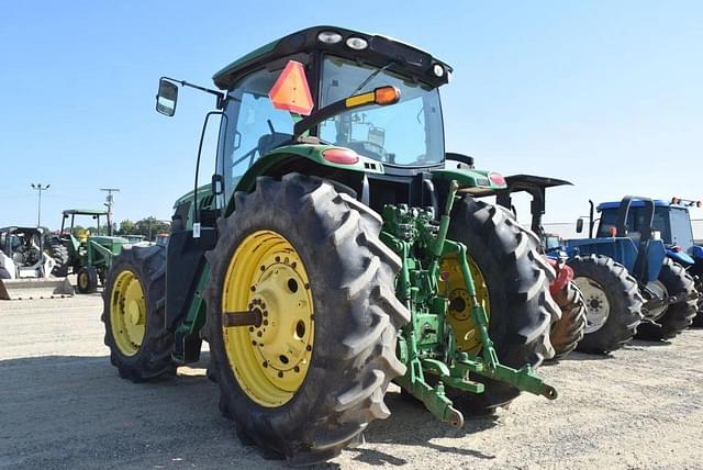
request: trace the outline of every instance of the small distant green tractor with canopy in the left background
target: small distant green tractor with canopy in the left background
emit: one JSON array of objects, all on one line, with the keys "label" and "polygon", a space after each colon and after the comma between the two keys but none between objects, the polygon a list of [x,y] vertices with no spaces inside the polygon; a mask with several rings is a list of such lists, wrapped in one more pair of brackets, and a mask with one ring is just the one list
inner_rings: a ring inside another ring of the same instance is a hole
[{"label": "small distant green tractor with canopy in the left background", "polygon": [[[108,217],[108,212],[93,209],[68,209],[63,212],[62,230],[46,240],[47,249],[56,262],[53,273],[65,277],[77,275],[77,287],[80,293],[91,293],[98,290],[98,283],[104,284],[108,270],[122,247],[132,240],[111,236],[112,227],[108,223],[104,227],[107,235],[101,235],[100,219]],[[88,216],[97,227],[97,233],[90,230],[75,230],[76,216]],[[67,221],[70,222],[67,224]]]}]

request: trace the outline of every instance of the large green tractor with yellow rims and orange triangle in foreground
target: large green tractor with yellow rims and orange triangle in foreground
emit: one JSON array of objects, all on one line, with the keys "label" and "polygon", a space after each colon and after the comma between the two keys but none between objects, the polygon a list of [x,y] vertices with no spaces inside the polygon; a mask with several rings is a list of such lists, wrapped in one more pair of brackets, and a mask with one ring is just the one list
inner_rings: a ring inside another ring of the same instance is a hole
[{"label": "large green tractor with yellow rims and orange triangle in foreground", "polygon": [[445,154],[450,71],[319,26],[216,72],[222,91],[161,78],[163,114],[178,85],[216,97],[215,172],[199,184],[199,152],[168,244],[112,265],[102,321],[120,376],[172,374],[207,340],[241,439],[297,465],[388,417],[391,381],[454,426],[521,391],[555,399],[534,372],[554,356],[555,273],[510,211],[475,199],[503,177]]}]

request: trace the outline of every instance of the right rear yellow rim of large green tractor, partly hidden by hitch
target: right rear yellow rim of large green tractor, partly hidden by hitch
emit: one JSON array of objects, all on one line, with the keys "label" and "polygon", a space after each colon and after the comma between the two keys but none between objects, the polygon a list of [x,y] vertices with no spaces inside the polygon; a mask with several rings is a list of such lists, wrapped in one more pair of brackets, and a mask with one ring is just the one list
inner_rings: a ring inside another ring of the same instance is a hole
[{"label": "right rear yellow rim of large green tractor, partly hidden by hitch", "polygon": [[[476,286],[476,296],[486,310],[486,314],[491,315],[491,302],[488,294],[488,284],[483,273],[473,261],[469,259],[469,270],[473,277]],[[481,337],[477,329],[476,323],[471,317],[471,309],[473,303],[464,287],[464,275],[457,258],[445,258],[442,260],[440,272],[443,282],[439,283],[440,294],[449,299],[449,310],[447,320],[457,339],[457,349],[459,351],[472,355],[479,354],[481,350]]]}]

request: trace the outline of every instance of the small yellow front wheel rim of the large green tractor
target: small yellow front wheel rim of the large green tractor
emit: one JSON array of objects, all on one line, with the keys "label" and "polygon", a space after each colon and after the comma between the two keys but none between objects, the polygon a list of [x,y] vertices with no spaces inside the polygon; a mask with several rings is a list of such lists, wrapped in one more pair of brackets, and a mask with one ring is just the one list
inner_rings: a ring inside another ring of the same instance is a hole
[{"label": "small yellow front wheel rim of the large green tractor", "polygon": [[129,269],[118,275],[112,288],[110,326],[120,352],[124,356],[137,354],[146,332],[146,301],[142,282]]}]

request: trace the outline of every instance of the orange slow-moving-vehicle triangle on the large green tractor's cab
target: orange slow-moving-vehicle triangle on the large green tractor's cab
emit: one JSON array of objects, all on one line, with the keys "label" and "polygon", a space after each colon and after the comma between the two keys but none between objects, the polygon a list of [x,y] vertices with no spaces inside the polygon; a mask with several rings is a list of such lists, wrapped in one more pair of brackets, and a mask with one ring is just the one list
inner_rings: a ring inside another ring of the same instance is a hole
[{"label": "orange slow-moving-vehicle triangle on the large green tractor's cab", "polygon": [[315,104],[312,102],[303,65],[289,60],[274,83],[274,88],[268,92],[268,98],[277,110],[310,115]]}]

